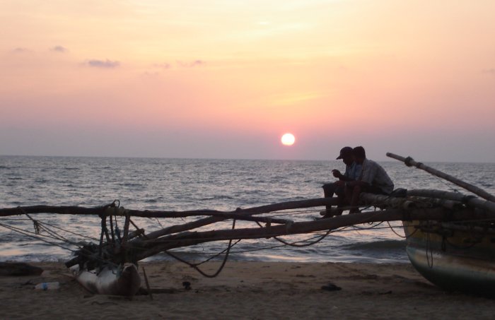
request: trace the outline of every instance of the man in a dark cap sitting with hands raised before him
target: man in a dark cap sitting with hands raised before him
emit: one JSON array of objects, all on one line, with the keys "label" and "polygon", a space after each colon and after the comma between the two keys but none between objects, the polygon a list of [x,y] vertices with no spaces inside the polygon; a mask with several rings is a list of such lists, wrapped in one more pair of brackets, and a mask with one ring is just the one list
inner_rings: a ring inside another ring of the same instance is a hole
[{"label": "man in a dark cap sitting with hands raised before him", "polygon": [[[336,177],[336,182],[332,182],[329,184],[323,184],[323,193],[325,194],[325,198],[332,198],[334,194],[337,194],[337,198],[339,198],[339,205],[343,204],[345,201],[345,190],[344,184],[345,182],[351,182],[359,178],[361,174],[361,165],[357,164],[354,161],[354,155],[352,153],[351,147],[344,147],[340,149],[340,154],[337,157],[337,160],[342,159],[342,162],[346,165],[346,171],[342,174],[339,170],[332,170],[332,174]],[[324,215],[323,218],[330,218],[333,215],[341,215],[342,211],[337,210],[335,213],[331,212],[332,206],[327,206],[326,211],[322,211],[320,214]]]}]

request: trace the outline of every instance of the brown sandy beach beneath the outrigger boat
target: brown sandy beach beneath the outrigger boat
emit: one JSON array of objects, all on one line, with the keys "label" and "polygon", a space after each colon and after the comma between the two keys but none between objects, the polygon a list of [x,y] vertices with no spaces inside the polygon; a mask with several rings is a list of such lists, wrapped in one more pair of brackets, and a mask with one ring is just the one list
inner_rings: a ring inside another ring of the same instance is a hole
[{"label": "brown sandy beach beneath the outrigger boat", "polygon": [[[1,319],[491,319],[495,309],[494,299],[443,292],[406,263],[228,261],[216,278],[182,263],[141,263],[152,288],[175,291],[153,300],[91,295],[63,263],[32,264],[45,272],[0,277]],[[59,281],[59,290],[33,289],[50,281]],[[330,284],[342,290],[322,289]]]}]

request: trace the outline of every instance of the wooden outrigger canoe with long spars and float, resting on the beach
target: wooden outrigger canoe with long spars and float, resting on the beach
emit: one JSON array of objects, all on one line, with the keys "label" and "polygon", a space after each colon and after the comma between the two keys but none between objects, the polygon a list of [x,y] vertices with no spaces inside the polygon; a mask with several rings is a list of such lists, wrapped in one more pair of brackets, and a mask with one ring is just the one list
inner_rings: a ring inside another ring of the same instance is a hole
[{"label": "wooden outrigger canoe with long spars and float, resting on the beach", "polygon": [[[407,254],[421,275],[441,288],[495,294],[495,196],[459,179],[426,167],[412,158],[392,153],[404,161],[438,177],[462,186],[476,196],[440,190],[402,190],[389,196],[361,194],[360,204],[377,211],[363,211],[333,218],[293,221],[264,213],[293,209],[336,206],[337,198],[315,198],[272,203],[235,211],[138,211],[120,207],[119,201],[107,206],[28,206],[0,209],[0,217],[32,213],[98,215],[101,218],[100,244],[84,244],[66,262],[75,278],[90,292],[105,295],[135,295],[141,280],[136,263],[171,249],[205,242],[235,239],[276,238],[332,230],[362,223],[402,221],[407,236]],[[479,196],[480,198],[477,198]],[[117,205],[118,202],[118,205]],[[131,217],[186,218],[206,216],[180,225],[169,225],[145,234]],[[117,217],[125,217],[121,236]],[[224,220],[233,220],[231,229],[198,230]],[[33,220],[33,218],[31,218]],[[256,227],[234,228],[235,220],[254,221]],[[33,220],[36,223],[36,220]],[[113,223],[115,221],[115,223]],[[107,228],[110,222],[110,229]],[[132,223],[136,230],[130,232]],[[263,225],[264,224],[264,225]],[[44,226],[44,228],[46,228]],[[105,241],[106,240],[106,241]],[[317,240],[317,242],[320,240]],[[282,241],[284,242],[284,241]],[[285,242],[284,242],[285,243]],[[231,242],[228,244],[231,247]],[[228,252],[228,250],[227,250]],[[225,254],[225,261],[228,254]],[[81,269],[80,269],[81,268]]]}]

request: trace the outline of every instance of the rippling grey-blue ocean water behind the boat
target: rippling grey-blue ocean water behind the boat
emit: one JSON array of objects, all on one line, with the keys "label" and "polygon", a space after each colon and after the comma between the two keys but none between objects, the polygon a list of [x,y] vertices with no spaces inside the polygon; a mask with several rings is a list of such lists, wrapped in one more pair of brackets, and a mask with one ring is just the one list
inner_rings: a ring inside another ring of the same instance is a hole
[{"label": "rippling grey-blue ocean water behind the boat", "polygon": [[[463,191],[402,162],[380,162],[396,188]],[[426,163],[465,182],[495,194],[493,163]],[[233,211],[282,201],[319,198],[321,186],[334,181],[330,171],[344,170],[340,161],[214,160],[162,158],[71,158],[0,156],[0,208],[16,206],[120,205],[137,210],[185,211],[213,209]],[[276,213],[295,221],[320,217],[314,210]],[[98,243],[100,219],[81,215],[31,215],[47,223],[64,241],[33,235],[33,221],[25,215],[0,218],[0,261],[67,261],[77,242]],[[135,218],[146,232],[193,218]],[[231,229],[231,221],[215,229]],[[122,223],[123,224],[123,223]],[[332,232],[318,244],[289,247],[274,239],[243,240],[231,249],[229,259],[252,261],[366,261],[407,263],[401,223],[359,225]],[[237,222],[236,227],[257,227]],[[15,230],[12,230],[15,228]],[[204,227],[203,229],[207,229]],[[211,228],[211,227],[210,227]],[[395,231],[395,232],[394,232]],[[21,233],[23,232],[23,233]],[[292,235],[286,241],[318,237]],[[42,236],[46,236],[42,232]],[[40,237],[40,239],[38,239]],[[209,242],[173,251],[190,261],[202,261],[226,249],[228,242]],[[157,254],[148,260],[168,260]]]}]

